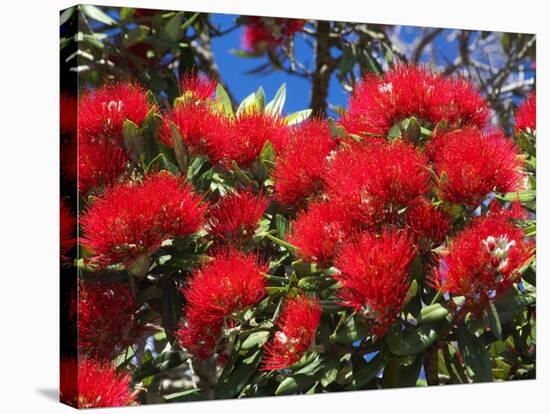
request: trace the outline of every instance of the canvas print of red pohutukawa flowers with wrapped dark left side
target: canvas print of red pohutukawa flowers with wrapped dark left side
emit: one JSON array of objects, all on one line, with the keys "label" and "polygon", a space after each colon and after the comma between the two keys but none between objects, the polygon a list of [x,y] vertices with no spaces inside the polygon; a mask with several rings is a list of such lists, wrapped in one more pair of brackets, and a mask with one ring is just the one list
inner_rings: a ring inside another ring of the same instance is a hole
[{"label": "canvas print of red pohutukawa flowers with wrapped dark left side", "polygon": [[63,403],[535,379],[534,34],[60,17]]}]

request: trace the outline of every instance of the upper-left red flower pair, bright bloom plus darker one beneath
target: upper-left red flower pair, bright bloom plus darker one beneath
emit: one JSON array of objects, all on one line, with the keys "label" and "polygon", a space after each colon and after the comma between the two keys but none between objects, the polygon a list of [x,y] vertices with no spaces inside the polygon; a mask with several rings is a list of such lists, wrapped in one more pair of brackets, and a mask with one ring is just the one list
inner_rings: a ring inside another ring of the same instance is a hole
[{"label": "upper-left red flower pair, bright bloom plus darker one beneath", "polygon": [[140,126],[149,113],[146,90],[131,82],[107,84],[84,93],[78,103],[78,189],[109,186],[129,161],[122,128]]}]

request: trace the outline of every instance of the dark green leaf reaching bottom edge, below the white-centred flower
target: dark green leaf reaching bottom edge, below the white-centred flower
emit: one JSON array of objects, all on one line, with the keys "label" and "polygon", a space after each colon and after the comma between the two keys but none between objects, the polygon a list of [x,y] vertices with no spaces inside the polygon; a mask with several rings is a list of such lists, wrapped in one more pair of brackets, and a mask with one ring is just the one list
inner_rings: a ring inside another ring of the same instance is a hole
[{"label": "dark green leaf reaching bottom edge, below the white-centred flower", "polygon": [[473,373],[474,382],[493,381],[491,359],[483,341],[470,333],[465,326],[458,328],[458,348],[466,367]]}]

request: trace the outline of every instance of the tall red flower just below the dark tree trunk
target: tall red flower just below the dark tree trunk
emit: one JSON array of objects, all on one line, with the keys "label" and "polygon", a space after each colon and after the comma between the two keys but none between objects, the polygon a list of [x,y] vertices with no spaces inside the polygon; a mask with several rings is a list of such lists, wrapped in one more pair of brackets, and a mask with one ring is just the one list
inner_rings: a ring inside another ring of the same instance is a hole
[{"label": "tall red flower just below the dark tree trunk", "polygon": [[296,204],[322,186],[321,172],[327,156],[336,148],[328,123],[310,120],[292,130],[287,148],[275,163],[275,199]]}]

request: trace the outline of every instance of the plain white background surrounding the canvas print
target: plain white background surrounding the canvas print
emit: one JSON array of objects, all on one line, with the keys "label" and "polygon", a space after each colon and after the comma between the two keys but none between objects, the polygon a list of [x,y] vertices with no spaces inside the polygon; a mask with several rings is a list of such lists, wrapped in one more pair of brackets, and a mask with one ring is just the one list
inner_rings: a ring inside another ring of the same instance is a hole
[{"label": "plain white background surrounding the canvas print", "polygon": [[[104,4],[104,2],[99,2]],[[0,412],[58,413],[58,11],[0,7]],[[548,412],[548,10],[541,0],[125,0],[110,5],[537,33],[538,355],[536,381],[117,409],[117,412]],[[545,165],[546,164],[546,165]],[[292,410],[292,411],[289,411]],[[112,412],[112,409],[97,412]]]}]

